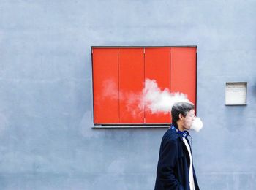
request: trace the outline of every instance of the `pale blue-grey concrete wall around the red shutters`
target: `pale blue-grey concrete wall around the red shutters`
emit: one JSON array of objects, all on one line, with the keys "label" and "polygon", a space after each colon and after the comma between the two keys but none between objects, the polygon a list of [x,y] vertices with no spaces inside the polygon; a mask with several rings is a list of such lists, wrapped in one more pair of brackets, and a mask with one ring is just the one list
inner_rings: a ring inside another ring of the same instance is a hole
[{"label": "pale blue-grey concrete wall around the red shutters", "polygon": [[[198,45],[201,189],[256,189],[256,1],[0,1],[0,189],[154,189],[166,129],[92,129],[91,45]],[[225,106],[225,83],[248,104]]]}]

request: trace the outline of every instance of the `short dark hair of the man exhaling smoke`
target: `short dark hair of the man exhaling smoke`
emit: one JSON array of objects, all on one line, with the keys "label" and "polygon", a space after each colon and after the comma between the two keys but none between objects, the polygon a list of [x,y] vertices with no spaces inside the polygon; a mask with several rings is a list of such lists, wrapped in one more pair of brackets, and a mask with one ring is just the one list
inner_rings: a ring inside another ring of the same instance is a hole
[{"label": "short dark hair of the man exhaling smoke", "polygon": [[187,113],[190,110],[194,110],[195,106],[188,102],[178,102],[173,104],[171,115],[172,115],[172,124],[173,126],[177,126],[177,121],[179,120],[178,115],[181,113],[184,117],[186,117]]}]

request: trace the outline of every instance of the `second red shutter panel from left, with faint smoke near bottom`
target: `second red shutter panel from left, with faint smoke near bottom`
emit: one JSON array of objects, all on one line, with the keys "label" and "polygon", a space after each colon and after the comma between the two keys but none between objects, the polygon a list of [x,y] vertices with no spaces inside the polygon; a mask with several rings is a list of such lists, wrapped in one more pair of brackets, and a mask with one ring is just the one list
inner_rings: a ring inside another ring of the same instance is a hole
[{"label": "second red shutter panel from left, with faint smoke near bottom", "polygon": [[144,123],[144,112],[138,108],[138,94],[143,90],[143,48],[119,49],[119,110],[121,123]]}]

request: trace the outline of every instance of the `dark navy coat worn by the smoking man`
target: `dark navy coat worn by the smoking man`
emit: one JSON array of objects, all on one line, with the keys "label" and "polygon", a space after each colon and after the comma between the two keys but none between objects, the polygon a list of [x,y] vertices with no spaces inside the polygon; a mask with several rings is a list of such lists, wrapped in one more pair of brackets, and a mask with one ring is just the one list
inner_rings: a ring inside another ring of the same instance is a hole
[{"label": "dark navy coat worn by the smoking man", "polygon": [[[162,137],[154,189],[189,190],[189,164],[189,153],[181,135],[173,129],[168,129]],[[199,186],[194,167],[192,168],[197,190]]]}]

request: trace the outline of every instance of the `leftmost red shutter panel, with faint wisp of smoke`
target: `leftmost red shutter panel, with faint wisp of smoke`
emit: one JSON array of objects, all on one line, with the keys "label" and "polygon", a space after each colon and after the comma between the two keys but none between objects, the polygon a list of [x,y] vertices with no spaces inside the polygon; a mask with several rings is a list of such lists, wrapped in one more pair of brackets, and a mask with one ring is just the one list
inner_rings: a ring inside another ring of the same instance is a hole
[{"label": "leftmost red shutter panel, with faint wisp of smoke", "polygon": [[93,49],[94,123],[118,123],[118,49]]}]

